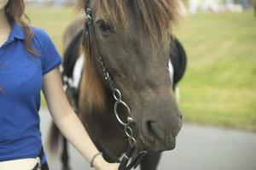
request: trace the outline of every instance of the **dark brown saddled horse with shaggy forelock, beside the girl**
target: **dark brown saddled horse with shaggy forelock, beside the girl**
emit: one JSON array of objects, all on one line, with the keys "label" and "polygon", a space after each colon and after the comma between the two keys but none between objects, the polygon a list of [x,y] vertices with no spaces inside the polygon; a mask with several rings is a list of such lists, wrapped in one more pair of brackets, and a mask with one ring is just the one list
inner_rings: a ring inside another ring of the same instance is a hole
[{"label": "dark brown saddled horse with shaggy forelock, beside the girl", "polygon": [[[67,88],[67,97],[104,159],[118,162],[132,143],[132,156],[147,150],[141,169],[155,170],[160,153],[175,148],[182,127],[175,87],[183,77],[186,54],[172,35],[178,2],[80,0],[78,8],[90,9],[90,14],[86,11],[86,20],[75,20],[64,34],[65,76],[73,79],[76,62],[82,62],[79,85]],[[53,124],[51,148],[58,134]],[[63,169],[69,169],[66,139],[63,144]]]}]

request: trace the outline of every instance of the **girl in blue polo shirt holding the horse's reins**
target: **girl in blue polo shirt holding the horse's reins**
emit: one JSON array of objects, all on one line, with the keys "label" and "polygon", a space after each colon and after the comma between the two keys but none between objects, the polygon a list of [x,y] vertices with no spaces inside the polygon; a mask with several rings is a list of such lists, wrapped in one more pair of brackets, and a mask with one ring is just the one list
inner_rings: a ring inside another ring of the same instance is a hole
[{"label": "girl in blue polo shirt holding the horse's reins", "polygon": [[55,124],[91,166],[118,169],[104,161],[68,104],[61,57],[44,30],[26,24],[24,8],[24,0],[0,0],[0,169],[49,169],[39,130],[41,89]]}]

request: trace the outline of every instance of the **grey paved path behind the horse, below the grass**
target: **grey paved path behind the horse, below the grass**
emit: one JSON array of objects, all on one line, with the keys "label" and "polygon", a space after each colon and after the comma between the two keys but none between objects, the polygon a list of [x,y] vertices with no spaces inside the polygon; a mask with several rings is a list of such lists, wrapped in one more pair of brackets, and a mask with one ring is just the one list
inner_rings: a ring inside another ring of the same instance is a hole
[{"label": "grey paved path behind the horse, below the grass", "polygon": [[[41,111],[40,116],[45,142],[50,116],[48,111]],[[70,150],[73,170],[90,169],[76,150]],[[48,156],[52,170],[61,170],[58,159]],[[256,170],[256,133],[184,124],[177,148],[164,152],[158,169]]]}]

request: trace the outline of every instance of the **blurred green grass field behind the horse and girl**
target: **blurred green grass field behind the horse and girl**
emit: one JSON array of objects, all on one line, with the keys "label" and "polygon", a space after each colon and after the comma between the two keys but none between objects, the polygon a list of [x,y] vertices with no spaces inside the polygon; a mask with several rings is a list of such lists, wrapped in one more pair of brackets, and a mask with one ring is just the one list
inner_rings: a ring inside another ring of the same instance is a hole
[{"label": "blurred green grass field behind the horse and girl", "polygon": [[[62,54],[62,34],[76,16],[73,9],[30,7],[27,14],[33,26],[49,32]],[[176,35],[189,57],[180,83],[186,122],[256,131],[255,20],[249,11],[196,14],[181,22]]]}]

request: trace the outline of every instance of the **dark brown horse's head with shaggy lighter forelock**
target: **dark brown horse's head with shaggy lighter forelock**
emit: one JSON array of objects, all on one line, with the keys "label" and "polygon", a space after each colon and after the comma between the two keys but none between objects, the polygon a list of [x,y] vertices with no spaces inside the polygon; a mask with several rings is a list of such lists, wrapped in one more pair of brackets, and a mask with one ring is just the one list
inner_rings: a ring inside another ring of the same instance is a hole
[{"label": "dark brown horse's head with shaggy lighter forelock", "polygon": [[[95,32],[94,40],[90,40],[95,50],[84,45],[86,56],[89,51],[92,56],[87,57],[86,67],[96,65],[96,55],[102,54],[110,77],[131,109],[139,144],[147,150],[172,150],[182,127],[182,114],[167,69],[177,1],[94,0],[81,1],[80,5],[91,8]],[[94,67],[98,73],[87,77],[99,77],[98,82],[102,82],[101,71]],[[88,86],[104,96],[103,86]],[[91,96],[104,105],[106,99],[97,94]]]}]

